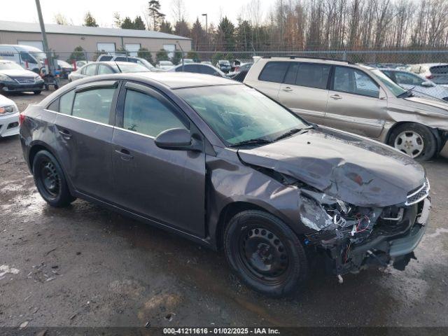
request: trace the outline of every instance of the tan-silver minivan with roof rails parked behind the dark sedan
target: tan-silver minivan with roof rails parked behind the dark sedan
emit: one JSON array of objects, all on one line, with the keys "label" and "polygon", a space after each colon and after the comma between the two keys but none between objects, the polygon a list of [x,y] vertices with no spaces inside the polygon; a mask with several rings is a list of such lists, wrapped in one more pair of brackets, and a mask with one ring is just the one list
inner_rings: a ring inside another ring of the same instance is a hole
[{"label": "tan-silver minivan with roof rails parked behind the dark sedan", "polygon": [[331,59],[255,60],[244,83],[311,123],[389,144],[430,160],[448,138],[448,104],[413,97],[379,69]]}]

